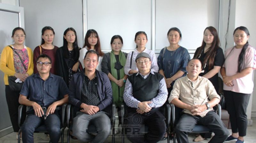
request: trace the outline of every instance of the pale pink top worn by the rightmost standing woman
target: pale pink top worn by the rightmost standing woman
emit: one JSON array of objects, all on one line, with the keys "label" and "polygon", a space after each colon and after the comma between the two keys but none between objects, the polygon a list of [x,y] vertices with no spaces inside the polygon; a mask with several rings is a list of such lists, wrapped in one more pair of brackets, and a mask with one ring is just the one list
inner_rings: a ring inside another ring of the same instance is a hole
[{"label": "pale pink top worn by the rightmost standing woman", "polygon": [[[232,50],[233,49],[233,50]],[[227,76],[232,76],[237,73],[237,68],[238,68],[238,56],[241,52],[242,48],[229,48],[225,52],[225,62],[223,64],[223,67],[226,69],[226,75]],[[248,46],[248,48],[245,51],[245,56],[244,56],[244,68],[252,67],[254,64],[254,49],[252,46]],[[229,90],[233,92],[238,92],[238,93],[244,93],[244,94],[251,94],[253,90],[253,81],[252,81],[252,73],[235,79],[233,80],[234,86],[228,87],[227,85],[223,85],[224,90]]]}]

